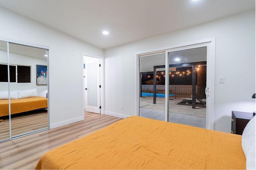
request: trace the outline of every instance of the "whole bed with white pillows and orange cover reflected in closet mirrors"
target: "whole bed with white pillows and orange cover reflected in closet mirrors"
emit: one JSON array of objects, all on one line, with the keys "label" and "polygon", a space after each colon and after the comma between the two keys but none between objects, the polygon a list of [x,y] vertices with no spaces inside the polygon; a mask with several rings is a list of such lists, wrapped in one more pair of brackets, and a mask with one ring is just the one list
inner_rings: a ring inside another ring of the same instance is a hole
[{"label": "whole bed with white pillows and orange cover reflected in closet mirrors", "polygon": [[[17,97],[13,94],[17,92]],[[0,117],[9,115],[9,100],[0,93]],[[11,94],[11,115],[47,108],[47,98],[38,96],[36,89],[26,91],[14,91]]]}]

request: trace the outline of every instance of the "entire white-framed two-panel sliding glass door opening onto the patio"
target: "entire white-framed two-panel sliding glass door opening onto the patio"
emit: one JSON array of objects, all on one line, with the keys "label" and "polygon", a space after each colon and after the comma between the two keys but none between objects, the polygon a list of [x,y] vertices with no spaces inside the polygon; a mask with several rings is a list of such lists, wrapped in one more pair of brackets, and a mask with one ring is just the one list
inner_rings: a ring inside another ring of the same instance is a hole
[{"label": "entire white-framed two-panel sliding glass door opening onto the patio", "polygon": [[215,38],[193,44],[137,55],[138,116],[214,129]]}]

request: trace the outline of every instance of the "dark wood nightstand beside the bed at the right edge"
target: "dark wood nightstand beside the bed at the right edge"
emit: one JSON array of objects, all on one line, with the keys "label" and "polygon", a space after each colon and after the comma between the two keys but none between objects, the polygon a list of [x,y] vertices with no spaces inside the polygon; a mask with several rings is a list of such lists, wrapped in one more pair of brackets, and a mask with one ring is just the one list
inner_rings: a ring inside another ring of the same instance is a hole
[{"label": "dark wood nightstand beside the bed at the right edge", "polygon": [[242,135],[244,128],[252,118],[252,113],[232,111],[231,133]]}]

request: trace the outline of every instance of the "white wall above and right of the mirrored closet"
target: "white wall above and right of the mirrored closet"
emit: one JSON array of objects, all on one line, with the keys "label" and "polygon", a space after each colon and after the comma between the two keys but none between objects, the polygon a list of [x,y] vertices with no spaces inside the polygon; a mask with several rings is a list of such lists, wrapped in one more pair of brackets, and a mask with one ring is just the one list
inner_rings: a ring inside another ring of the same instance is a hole
[{"label": "white wall above and right of the mirrored closet", "polygon": [[49,47],[50,128],[80,121],[82,52],[103,56],[98,47],[0,8],[0,37]]}]

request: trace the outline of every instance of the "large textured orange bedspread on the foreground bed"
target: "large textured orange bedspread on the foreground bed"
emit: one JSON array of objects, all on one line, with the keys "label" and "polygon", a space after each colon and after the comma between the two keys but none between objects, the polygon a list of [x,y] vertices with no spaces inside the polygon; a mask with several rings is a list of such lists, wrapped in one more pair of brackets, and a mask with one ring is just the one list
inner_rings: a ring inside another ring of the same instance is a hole
[{"label": "large textured orange bedspread on the foreground bed", "polygon": [[246,158],[240,135],[132,116],[46,153],[36,169],[246,169]]}]

